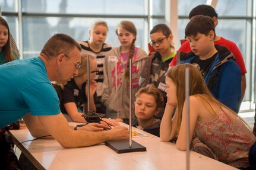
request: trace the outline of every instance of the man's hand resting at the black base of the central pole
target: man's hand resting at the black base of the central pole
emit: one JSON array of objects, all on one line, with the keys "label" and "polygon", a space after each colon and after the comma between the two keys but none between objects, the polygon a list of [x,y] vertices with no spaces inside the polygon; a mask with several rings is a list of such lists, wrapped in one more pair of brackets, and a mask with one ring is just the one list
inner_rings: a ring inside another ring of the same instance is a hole
[{"label": "man's hand resting at the black base of the central pole", "polygon": [[112,133],[111,140],[128,140],[129,139],[129,130],[124,126],[113,127],[109,132]]}]

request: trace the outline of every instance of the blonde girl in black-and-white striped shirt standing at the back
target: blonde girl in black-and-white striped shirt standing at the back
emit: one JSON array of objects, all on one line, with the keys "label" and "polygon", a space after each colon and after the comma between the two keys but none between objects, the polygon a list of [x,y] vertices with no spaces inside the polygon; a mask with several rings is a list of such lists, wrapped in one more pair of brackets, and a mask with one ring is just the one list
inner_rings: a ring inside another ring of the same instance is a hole
[{"label": "blonde girl in black-and-white striped shirt standing at the back", "polygon": [[106,53],[112,49],[110,44],[105,43],[108,36],[108,31],[108,24],[105,21],[96,20],[91,23],[91,27],[89,29],[89,40],[78,41],[82,47],[81,53],[92,54],[96,57],[99,72],[97,72],[97,75],[94,78],[94,80],[97,82],[95,104],[97,113],[103,114],[106,114],[106,107],[104,104],[102,104],[102,102],[100,102],[103,91],[103,60]]}]

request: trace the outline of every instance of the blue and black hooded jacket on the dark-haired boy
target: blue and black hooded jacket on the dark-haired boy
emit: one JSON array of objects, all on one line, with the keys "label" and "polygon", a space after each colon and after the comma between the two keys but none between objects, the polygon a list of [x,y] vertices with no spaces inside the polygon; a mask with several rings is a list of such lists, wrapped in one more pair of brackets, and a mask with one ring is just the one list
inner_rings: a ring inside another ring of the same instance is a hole
[{"label": "blue and black hooded jacket on the dark-haired boy", "polygon": [[[222,104],[238,113],[241,104],[241,72],[233,53],[226,47],[215,46],[218,53],[204,81],[211,94]],[[177,64],[193,63],[195,54],[177,52]]]}]

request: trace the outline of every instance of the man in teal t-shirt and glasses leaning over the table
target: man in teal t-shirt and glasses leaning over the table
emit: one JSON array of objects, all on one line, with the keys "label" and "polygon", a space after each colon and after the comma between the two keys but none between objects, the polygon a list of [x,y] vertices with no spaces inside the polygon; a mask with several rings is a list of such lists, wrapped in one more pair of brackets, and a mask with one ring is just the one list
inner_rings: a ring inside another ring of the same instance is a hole
[{"label": "man in teal t-shirt and glasses leaning over the table", "polygon": [[97,133],[88,130],[102,130],[106,126],[91,124],[71,129],[59,110],[58,96],[50,81],[65,85],[78,75],[80,51],[80,45],[72,37],[55,34],[46,42],[39,57],[1,65],[0,129],[23,117],[32,136],[52,136],[63,147],[128,139],[128,129],[121,126]]}]

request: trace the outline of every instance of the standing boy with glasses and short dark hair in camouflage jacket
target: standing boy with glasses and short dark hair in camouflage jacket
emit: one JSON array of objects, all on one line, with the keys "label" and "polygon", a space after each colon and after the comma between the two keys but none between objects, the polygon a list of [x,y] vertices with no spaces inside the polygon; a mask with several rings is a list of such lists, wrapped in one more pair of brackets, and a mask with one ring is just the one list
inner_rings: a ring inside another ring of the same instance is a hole
[{"label": "standing boy with glasses and short dark hair in camouflage jacket", "polygon": [[[165,103],[166,97],[166,84],[165,73],[169,68],[169,63],[172,61],[176,54],[175,47],[173,46],[172,31],[166,24],[155,25],[150,31],[150,45],[156,50],[156,53],[152,54],[144,68],[140,77],[140,86],[146,86],[147,84],[154,84],[164,97]],[[164,105],[165,107],[165,105]],[[163,117],[163,111],[157,115],[157,118]]]}]

